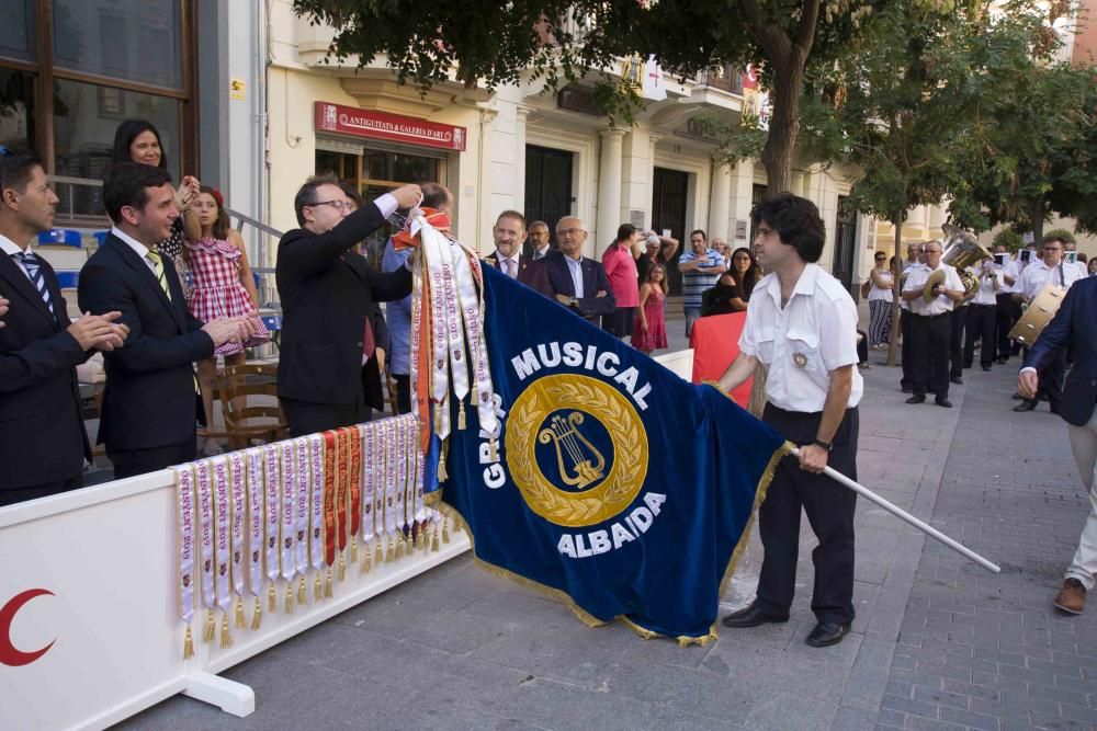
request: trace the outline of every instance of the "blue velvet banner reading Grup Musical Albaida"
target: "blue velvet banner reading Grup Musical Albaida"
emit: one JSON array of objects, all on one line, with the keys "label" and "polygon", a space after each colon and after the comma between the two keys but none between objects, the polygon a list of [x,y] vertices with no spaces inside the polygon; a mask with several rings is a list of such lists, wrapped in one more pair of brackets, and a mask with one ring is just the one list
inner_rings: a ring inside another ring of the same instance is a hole
[{"label": "blue velvet banner reading Grup Musical Albaida", "polygon": [[563,593],[588,624],[714,637],[784,439],[715,388],[490,266],[484,275],[499,431],[482,432],[466,408],[442,484],[476,558]]}]

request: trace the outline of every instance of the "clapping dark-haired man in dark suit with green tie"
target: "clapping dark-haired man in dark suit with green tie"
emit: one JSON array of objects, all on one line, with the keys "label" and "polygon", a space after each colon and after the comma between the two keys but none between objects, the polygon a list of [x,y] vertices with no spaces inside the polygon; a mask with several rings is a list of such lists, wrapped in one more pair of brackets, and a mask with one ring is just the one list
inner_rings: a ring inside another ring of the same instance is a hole
[{"label": "clapping dark-haired man in dark suit with green tie", "polygon": [[203,324],[186,299],[169,256],[155,250],[179,218],[171,175],[161,168],[122,162],[108,169],[103,203],[114,227],[80,272],[80,309],[122,312],[126,346],[105,355],[99,441],[114,477],[144,475],[190,461],[195,419],[203,409],[194,361],[253,334],[246,317]]}]

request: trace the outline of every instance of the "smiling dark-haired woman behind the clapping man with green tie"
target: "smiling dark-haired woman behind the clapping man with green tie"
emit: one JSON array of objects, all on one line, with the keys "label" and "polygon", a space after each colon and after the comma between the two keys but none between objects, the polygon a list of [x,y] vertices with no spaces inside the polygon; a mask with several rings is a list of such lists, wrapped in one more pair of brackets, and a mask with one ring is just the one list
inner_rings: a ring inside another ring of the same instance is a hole
[{"label": "smiling dark-haired woman behind the clapping man with green tie", "polygon": [[[160,132],[151,122],[125,119],[114,132],[114,150],[111,155],[111,161],[139,162],[167,170],[168,158],[163,153]],[[176,207],[179,208],[180,216],[171,226],[171,236],[156,244],[157,251],[171,258],[183,285],[183,293],[188,296],[190,283],[186,274],[186,262],[183,259],[183,241],[185,239],[196,241],[202,238],[202,226],[199,224],[197,216],[191,210],[191,204],[199,194],[200,185],[197,178],[183,175],[179,190],[176,192]]]}]

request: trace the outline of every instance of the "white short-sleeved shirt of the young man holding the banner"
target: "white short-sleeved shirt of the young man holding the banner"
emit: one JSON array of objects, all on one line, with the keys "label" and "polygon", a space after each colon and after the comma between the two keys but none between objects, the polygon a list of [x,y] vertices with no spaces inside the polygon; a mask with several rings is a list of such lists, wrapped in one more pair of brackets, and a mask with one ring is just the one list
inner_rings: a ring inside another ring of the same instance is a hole
[{"label": "white short-sleeved shirt of the young man holding the banner", "polygon": [[[770,403],[785,411],[823,411],[830,372],[859,359],[853,298],[817,264],[807,264],[782,308],[781,282],[777,274],[767,274],[747,305],[739,350],[769,368]],[[846,408],[856,407],[863,391],[855,367]]]}]

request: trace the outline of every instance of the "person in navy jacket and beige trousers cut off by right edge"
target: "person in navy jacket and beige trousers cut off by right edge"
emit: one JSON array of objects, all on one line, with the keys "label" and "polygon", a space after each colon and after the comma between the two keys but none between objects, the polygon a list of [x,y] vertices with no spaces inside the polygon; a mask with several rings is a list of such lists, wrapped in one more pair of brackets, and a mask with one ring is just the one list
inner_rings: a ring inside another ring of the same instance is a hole
[{"label": "person in navy jacket and beige trousers cut off by right edge", "polygon": [[1073,349],[1074,366],[1066,376],[1059,415],[1070,424],[1071,450],[1089,491],[1089,517],[1082,529],[1074,560],[1054,604],[1068,614],[1082,614],[1086,592],[1097,572],[1097,277],[1075,282],[1063,304],[1033,343],[1017,376],[1017,390],[1034,399],[1040,374],[1049,363]]}]

